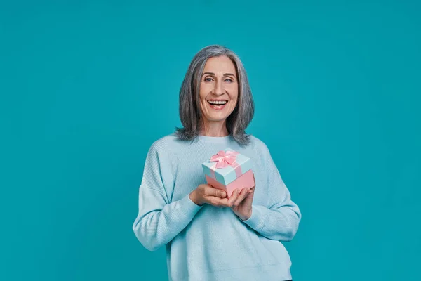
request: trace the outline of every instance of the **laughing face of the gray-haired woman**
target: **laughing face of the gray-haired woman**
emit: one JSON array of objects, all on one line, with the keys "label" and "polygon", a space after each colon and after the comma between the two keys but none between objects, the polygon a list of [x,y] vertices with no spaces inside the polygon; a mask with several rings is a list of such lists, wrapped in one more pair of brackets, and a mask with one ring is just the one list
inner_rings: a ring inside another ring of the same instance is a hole
[{"label": "laughing face of the gray-haired woman", "polygon": [[224,122],[239,96],[236,68],[226,56],[209,58],[200,84],[200,107],[206,122]]}]

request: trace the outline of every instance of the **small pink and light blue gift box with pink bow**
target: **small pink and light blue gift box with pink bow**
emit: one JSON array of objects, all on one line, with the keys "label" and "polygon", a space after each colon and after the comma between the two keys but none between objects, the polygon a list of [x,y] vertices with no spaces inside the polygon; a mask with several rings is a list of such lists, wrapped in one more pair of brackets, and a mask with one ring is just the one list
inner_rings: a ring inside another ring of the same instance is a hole
[{"label": "small pink and light blue gift box with pink bow", "polygon": [[227,197],[237,188],[241,190],[255,185],[251,159],[231,148],[219,151],[203,162],[202,167],[206,182],[227,192]]}]

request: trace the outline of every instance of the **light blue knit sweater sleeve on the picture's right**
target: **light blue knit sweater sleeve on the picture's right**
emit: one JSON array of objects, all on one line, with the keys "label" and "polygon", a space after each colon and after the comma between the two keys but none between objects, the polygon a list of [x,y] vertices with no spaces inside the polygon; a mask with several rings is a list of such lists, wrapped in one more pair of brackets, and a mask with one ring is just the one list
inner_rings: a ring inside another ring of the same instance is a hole
[{"label": "light blue knit sweater sleeve on the picture's right", "polygon": [[267,206],[253,204],[250,218],[243,223],[269,239],[290,241],[297,233],[301,212],[291,200],[290,192],[283,183],[267,146],[263,146],[269,201]]}]

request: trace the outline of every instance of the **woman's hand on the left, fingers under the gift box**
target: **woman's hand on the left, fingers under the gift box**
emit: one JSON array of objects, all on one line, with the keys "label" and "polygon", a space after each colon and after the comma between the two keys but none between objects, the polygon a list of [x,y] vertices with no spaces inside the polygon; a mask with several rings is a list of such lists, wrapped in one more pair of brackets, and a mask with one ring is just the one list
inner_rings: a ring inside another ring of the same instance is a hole
[{"label": "woman's hand on the left, fingers under the gift box", "polygon": [[217,207],[232,207],[232,200],[225,198],[227,193],[224,190],[214,188],[212,185],[201,184],[190,194],[190,200],[196,205],[211,204]]}]

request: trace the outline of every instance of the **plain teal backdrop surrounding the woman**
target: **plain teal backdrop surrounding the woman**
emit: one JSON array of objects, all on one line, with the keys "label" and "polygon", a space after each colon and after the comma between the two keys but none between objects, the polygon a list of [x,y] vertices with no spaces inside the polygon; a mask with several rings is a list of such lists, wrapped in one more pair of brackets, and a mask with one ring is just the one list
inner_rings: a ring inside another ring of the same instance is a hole
[{"label": "plain teal backdrop surrounding the woman", "polygon": [[152,2],[1,1],[0,280],[167,280],[138,186],[209,44],[302,210],[294,280],[421,280],[420,2]]}]

